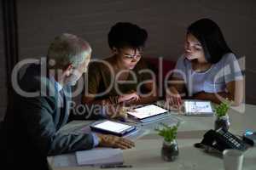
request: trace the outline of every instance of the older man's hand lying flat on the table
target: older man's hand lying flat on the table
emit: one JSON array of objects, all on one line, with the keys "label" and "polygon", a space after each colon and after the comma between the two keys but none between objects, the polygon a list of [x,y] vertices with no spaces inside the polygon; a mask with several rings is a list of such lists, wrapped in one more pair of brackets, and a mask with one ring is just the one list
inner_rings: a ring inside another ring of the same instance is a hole
[{"label": "older man's hand lying flat on the table", "polygon": [[120,138],[113,135],[105,135],[97,133],[96,136],[99,139],[99,146],[120,148],[122,150],[130,149],[135,146],[134,142],[129,139]]}]

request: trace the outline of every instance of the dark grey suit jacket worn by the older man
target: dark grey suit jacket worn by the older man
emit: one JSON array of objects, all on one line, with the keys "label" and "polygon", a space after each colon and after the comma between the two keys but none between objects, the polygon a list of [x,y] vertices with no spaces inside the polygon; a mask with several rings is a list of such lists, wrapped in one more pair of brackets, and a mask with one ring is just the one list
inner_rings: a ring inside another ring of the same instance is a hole
[{"label": "dark grey suit jacket worn by the older man", "polygon": [[24,97],[14,93],[3,123],[9,164],[20,163],[20,167],[24,165],[26,168],[29,166],[37,169],[45,167],[46,156],[93,147],[90,133],[58,132],[68,120],[71,88],[64,88],[67,107],[61,118],[55,85],[49,78],[40,77],[39,68],[40,65],[31,65],[22,77],[20,87],[26,92],[37,92],[44,87],[44,95]]}]

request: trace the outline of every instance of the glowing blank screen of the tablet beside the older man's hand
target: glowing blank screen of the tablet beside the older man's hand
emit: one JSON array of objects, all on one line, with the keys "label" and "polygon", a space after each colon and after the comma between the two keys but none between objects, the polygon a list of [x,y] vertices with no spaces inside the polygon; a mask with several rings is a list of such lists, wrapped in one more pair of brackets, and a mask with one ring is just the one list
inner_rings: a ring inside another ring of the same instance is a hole
[{"label": "glowing blank screen of the tablet beside the older man's hand", "polygon": [[105,122],[96,124],[94,127],[107,130],[113,133],[121,133],[124,130],[131,128],[131,126],[129,125],[125,125],[118,122],[111,122],[111,121],[105,121]]}]

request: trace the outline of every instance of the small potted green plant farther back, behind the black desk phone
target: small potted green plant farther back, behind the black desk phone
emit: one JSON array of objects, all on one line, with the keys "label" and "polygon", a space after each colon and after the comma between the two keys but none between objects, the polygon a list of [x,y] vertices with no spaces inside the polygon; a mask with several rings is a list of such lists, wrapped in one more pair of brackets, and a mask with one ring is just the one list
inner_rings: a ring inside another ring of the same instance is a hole
[{"label": "small potted green plant farther back, behind the black desk phone", "polygon": [[228,111],[230,110],[230,103],[230,101],[224,101],[215,107],[215,130],[222,128],[224,131],[228,131],[230,129],[230,117],[228,115]]}]

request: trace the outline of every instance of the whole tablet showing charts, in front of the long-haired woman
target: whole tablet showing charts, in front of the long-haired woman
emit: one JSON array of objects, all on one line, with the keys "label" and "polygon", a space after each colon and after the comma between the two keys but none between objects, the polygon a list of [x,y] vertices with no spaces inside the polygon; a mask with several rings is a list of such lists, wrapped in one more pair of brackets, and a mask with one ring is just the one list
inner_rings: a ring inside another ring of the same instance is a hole
[{"label": "whole tablet showing charts, in front of the long-haired woman", "polygon": [[184,114],[187,116],[213,116],[211,101],[185,100]]}]

